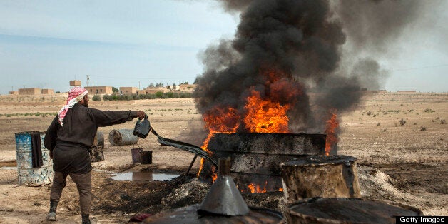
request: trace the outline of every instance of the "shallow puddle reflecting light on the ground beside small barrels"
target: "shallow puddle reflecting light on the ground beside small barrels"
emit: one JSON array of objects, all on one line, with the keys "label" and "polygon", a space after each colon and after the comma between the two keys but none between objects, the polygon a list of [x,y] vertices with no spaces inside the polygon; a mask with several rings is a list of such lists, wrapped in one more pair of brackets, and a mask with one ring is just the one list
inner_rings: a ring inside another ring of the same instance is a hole
[{"label": "shallow puddle reflecting light on the ground beside small barrels", "polygon": [[177,178],[178,174],[171,173],[157,173],[157,172],[128,172],[120,173],[111,177],[113,180],[119,181],[153,181],[153,180],[173,180]]}]

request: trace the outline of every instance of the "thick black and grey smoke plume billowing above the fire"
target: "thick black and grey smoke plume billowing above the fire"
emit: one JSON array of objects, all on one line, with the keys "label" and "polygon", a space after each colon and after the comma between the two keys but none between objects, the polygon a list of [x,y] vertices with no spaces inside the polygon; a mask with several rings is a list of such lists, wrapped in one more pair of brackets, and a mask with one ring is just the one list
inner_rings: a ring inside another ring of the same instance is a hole
[{"label": "thick black and grey smoke plume billowing above the fire", "polygon": [[[331,113],[352,110],[364,88],[380,88],[387,76],[374,57],[358,58],[344,46],[385,48],[418,15],[420,1],[220,2],[226,11],[240,13],[240,24],[234,39],[201,54],[205,67],[194,93],[198,111],[230,107],[244,113],[246,99],[258,91],[291,106],[292,132],[322,133]],[[352,60],[345,65],[344,57]],[[238,131],[246,130],[240,125]]]}]

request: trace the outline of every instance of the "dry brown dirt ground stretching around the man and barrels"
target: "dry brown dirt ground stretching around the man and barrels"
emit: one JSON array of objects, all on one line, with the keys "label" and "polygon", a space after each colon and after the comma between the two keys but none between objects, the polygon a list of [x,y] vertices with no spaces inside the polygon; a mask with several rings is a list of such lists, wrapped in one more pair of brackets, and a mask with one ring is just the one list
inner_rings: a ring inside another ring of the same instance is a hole
[{"label": "dry brown dirt ground stretching around the man and barrels", "polygon": [[[14,133],[46,131],[66,95],[0,96],[0,223],[47,223],[51,185],[19,185]],[[102,110],[143,110],[166,138],[200,145],[200,114],[193,98],[140,101],[89,101]],[[372,93],[352,113],[340,115],[338,154],[357,158],[362,197],[391,200],[448,215],[448,93]],[[118,181],[131,171],[183,174],[192,153],[160,146],[151,135],[136,145],[111,146],[112,129],[132,129],[135,121],[99,128],[104,161],[93,163],[93,223],[127,223],[134,215],[156,214],[200,203],[210,184],[195,180],[197,160],[188,175],[166,181]],[[192,133],[195,133],[194,135]],[[194,136],[194,137],[192,137]],[[131,149],[152,151],[153,163],[132,163]],[[248,205],[281,211],[282,193],[243,194]],[[56,223],[80,223],[76,185],[68,178]]]}]

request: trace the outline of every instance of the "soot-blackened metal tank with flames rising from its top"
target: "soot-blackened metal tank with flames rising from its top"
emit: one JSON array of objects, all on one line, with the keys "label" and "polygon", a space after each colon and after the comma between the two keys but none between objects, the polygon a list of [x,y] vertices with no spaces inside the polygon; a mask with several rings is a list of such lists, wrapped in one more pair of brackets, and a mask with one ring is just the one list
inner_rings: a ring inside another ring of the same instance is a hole
[{"label": "soot-blackened metal tank with flames rising from its top", "polygon": [[[232,176],[241,192],[282,191],[280,163],[325,155],[325,135],[306,133],[214,133],[208,148],[215,158],[230,157]],[[208,179],[215,168],[205,161],[198,177]]]}]

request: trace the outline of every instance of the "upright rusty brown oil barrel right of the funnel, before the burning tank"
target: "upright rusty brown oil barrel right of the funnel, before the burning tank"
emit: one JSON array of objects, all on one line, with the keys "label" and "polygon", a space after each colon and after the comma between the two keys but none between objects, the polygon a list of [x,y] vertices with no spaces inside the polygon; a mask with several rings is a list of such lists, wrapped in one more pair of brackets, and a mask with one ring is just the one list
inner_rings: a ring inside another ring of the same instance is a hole
[{"label": "upright rusty brown oil barrel right of the funnel, before the burning tank", "polygon": [[281,163],[283,193],[288,203],[305,198],[361,198],[357,158],[305,156]]}]

